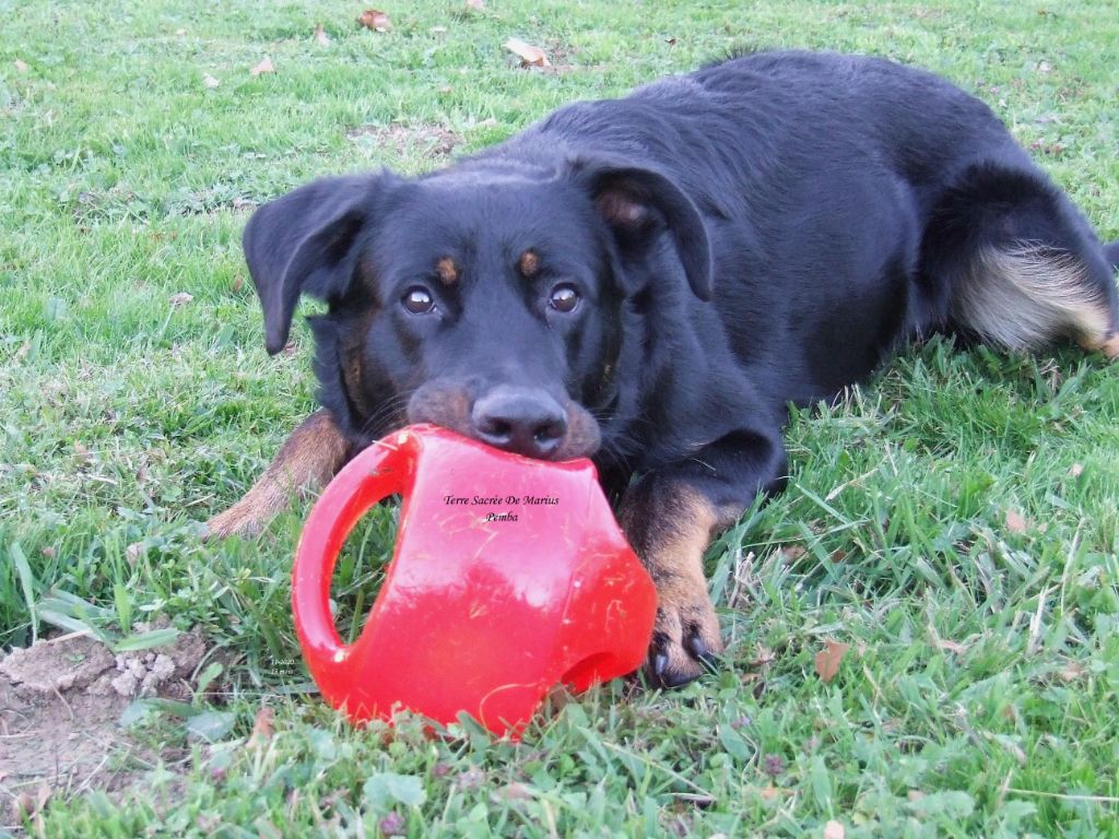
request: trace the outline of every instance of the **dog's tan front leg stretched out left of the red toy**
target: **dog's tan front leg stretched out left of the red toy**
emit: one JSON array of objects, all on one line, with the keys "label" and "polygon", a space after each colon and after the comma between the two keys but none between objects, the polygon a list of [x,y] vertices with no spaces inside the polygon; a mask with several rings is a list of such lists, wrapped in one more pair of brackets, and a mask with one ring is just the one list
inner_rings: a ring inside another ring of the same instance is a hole
[{"label": "dog's tan front leg stretched out left of the red toy", "polygon": [[207,538],[251,536],[301,492],[318,489],[348,460],[350,443],[326,411],[304,420],[253,488],[225,512],[206,522]]}]

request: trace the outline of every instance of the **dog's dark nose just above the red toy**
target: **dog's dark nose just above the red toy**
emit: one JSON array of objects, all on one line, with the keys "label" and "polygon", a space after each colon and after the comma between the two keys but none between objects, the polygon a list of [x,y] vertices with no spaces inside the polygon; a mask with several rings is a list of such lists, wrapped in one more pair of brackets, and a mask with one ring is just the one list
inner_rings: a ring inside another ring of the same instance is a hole
[{"label": "dog's dark nose just above the red toy", "polygon": [[474,434],[495,449],[548,458],[567,434],[567,416],[547,393],[529,387],[496,387],[474,403]]}]

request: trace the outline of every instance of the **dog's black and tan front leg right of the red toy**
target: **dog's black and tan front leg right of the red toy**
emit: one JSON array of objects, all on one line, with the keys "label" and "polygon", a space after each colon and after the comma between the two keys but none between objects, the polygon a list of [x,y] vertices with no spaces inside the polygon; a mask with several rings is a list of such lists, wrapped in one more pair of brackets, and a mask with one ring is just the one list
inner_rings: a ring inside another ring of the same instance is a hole
[{"label": "dog's black and tan front leg right of the red toy", "polygon": [[723,652],[704,552],[759,492],[778,489],[784,470],[779,436],[735,434],[642,475],[626,493],[622,528],[657,586],[646,662],[652,682],[684,685]]}]

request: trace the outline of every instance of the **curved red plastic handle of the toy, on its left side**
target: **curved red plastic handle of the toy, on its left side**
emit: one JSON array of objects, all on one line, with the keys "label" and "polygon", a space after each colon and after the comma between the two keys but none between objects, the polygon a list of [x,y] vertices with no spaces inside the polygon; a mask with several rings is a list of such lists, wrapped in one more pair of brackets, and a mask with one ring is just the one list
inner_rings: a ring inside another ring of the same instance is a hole
[{"label": "curved red plastic handle of the toy, on its left side", "polygon": [[382,499],[405,491],[415,462],[416,437],[403,433],[393,443],[374,443],[335,477],[316,501],[295,549],[291,600],[295,632],[316,681],[336,682],[349,647],[330,614],[330,579],[346,537],[357,520]]}]

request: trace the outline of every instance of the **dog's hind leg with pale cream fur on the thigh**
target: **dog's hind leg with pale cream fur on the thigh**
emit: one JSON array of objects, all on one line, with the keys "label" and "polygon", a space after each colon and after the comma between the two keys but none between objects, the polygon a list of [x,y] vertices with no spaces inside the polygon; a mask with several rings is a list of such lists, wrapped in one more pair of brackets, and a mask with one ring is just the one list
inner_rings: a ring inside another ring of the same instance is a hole
[{"label": "dog's hind leg with pale cream fur on the thigh", "polygon": [[966,169],[941,198],[923,254],[948,291],[952,327],[1008,349],[1071,338],[1119,356],[1112,252],[1041,173]]}]

